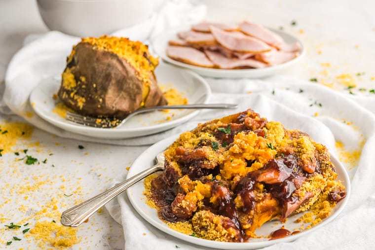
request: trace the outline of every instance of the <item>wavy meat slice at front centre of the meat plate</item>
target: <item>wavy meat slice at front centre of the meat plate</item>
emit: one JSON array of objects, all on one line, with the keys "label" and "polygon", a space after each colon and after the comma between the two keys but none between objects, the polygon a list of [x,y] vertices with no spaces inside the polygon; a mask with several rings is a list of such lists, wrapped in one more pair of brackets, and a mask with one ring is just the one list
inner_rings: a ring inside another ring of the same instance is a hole
[{"label": "wavy meat slice at front centre of the meat plate", "polygon": [[220,69],[238,69],[238,68],[264,68],[267,65],[255,59],[230,59],[219,52],[205,50],[207,57]]}]

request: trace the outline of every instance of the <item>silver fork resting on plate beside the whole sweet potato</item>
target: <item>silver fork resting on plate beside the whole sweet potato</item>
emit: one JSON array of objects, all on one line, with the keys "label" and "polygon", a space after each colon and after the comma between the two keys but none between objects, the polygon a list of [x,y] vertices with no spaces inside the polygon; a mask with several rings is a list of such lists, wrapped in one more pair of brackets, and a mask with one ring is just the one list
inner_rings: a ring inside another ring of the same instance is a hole
[{"label": "silver fork resting on plate beside the whole sweet potato", "polygon": [[101,128],[117,128],[123,125],[126,121],[128,121],[131,117],[146,113],[154,110],[162,110],[162,109],[201,109],[201,108],[236,108],[237,104],[187,104],[187,105],[171,105],[171,106],[155,106],[155,107],[146,107],[142,109],[138,109],[133,113],[130,113],[126,116],[121,122],[112,124],[111,120],[108,122],[100,123],[98,121],[102,120],[100,118],[95,118],[91,116],[84,116],[76,113],[72,113],[67,111],[65,119],[74,123],[78,123],[80,125],[85,125],[89,127],[101,127]]}]

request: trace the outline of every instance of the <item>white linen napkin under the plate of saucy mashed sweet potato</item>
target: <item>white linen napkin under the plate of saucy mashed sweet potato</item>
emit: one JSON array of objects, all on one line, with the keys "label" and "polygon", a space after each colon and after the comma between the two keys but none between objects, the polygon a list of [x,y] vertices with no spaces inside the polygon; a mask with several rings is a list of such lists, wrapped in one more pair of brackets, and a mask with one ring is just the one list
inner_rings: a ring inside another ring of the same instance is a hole
[{"label": "white linen napkin under the plate of saucy mashed sweet potato", "polygon": [[[370,249],[374,246],[375,238],[371,235],[375,230],[375,115],[372,112],[332,89],[288,77],[275,76],[268,81],[209,79],[209,83],[215,93],[211,101],[225,100],[238,103],[240,107],[238,110],[202,110],[199,117],[205,120],[250,107],[268,120],[307,132],[338,157],[340,152],[335,142],[342,142],[347,150],[359,150],[365,142],[358,164],[344,162],[352,179],[352,191],[344,211],[334,221],[294,242],[266,249]],[[374,105],[375,100],[367,102]],[[195,121],[203,122],[199,117]],[[164,250],[174,249],[176,245],[181,249],[206,249],[151,226],[132,208],[126,193],[106,208],[123,225],[126,250]]]}]

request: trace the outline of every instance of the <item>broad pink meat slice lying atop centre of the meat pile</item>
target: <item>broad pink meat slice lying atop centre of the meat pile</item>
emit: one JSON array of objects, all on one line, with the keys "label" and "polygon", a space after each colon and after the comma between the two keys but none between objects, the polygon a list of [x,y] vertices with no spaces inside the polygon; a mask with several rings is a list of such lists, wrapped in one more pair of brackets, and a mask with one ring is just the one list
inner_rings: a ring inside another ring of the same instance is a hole
[{"label": "broad pink meat slice lying atop centre of the meat pile", "polygon": [[210,26],[215,39],[225,48],[246,53],[262,53],[271,50],[265,42],[240,32],[226,32]]}]

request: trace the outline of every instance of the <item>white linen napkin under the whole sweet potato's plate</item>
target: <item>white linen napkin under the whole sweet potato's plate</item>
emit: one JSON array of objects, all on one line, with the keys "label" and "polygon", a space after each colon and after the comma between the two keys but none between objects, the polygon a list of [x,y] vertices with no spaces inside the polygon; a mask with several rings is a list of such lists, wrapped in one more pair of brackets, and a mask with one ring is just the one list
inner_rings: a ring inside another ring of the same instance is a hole
[{"label": "white linen napkin under the whole sweet potato's plate", "polygon": [[[133,40],[147,42],[159,32],[181,25],[191,25],[203,20],[206,15],[206,6],[198,1],[180,0],[164,1],[159,11],[144,22],[114,32],[113,36],[126,36]],[[66,65],[66,57],[70,54],[72,46],[80,38],[68,36],[60,32],[51,31],[42,36],[31,35],[25,39],[24,47],[11,59],[5,75],[5,90],[0,102],[0,112],[17,114],[36,127],[49,133],[76,139],[80,141],[119,144],[119,145],[145,145],[165,138],[156,134],[138,139],[103,140],[77,135],[57,128],[44,121],[38,115],[27,115],[32,112],[29,104],[31,91],[40,80],[49,76],[60,75]],[[174,132],[181,132],[176,129]]]}]

